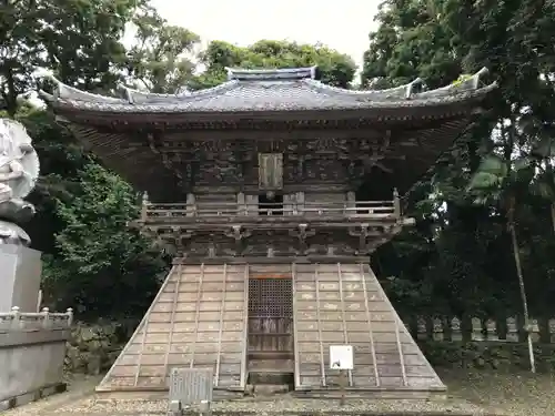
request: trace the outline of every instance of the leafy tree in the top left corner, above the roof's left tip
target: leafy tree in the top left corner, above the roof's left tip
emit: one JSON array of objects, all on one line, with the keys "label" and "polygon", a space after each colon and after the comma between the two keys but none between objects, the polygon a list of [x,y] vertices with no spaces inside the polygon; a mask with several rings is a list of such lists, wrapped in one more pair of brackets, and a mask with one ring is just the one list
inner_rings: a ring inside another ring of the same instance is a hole
[{"label": "leafy tree in the top left corner, above the roof's left tip", "polygon": [[68,84],[105,90],[124,58],[125,23],[142,0],[4,1],[0,13],[0,97],[10,116],[39,68]]}]

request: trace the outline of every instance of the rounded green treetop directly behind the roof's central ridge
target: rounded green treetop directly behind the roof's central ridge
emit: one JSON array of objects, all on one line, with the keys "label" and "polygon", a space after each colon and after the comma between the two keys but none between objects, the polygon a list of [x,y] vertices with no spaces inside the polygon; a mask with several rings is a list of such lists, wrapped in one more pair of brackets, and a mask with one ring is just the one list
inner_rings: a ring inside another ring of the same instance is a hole
[{"label": "rounded green treetop directly behind the roof's central ridge", "polygon": [[225,68],[295,68],[317,65],[322,82],[349,88],[356,71],[353,60],[321,44],[261,40],[251,47],[213,41],[201,53],[205,71],[192,80],[191,88],[214,87],[226,80]]}]

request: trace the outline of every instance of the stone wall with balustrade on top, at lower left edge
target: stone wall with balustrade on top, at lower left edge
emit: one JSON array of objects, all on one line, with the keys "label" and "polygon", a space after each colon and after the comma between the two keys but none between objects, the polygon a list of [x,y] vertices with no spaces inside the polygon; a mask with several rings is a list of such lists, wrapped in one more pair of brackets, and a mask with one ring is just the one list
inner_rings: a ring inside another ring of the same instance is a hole
[{"label": "stone wall with balustrade on top, at lower left edge", "polygon": [[64,389],[72,310],[0,313],[0,412]]}]

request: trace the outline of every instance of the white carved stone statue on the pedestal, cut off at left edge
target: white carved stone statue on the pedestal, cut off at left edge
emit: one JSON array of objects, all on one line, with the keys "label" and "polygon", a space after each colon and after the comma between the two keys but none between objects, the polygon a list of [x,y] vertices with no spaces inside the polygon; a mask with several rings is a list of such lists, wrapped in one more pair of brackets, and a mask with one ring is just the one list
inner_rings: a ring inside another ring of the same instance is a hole
[{"label": "white carved stone statue on the pedestal, cut off at left edge", "polygon": [[0,244],[30,244],[17,223],[29,221],[34,206],[23,199],[39,177],[39,158],[26,128],[0,119]]}]

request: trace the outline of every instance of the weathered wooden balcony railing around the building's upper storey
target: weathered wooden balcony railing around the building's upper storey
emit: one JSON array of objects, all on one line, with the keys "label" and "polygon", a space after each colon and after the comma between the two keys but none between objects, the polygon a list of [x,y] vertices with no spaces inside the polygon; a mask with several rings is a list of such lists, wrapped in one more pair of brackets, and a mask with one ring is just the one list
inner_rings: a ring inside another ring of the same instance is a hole
[{"label": "weathered wooden balcony railing around the building's upper storey", "polygon": [[398,200],[392,201],[355,201],[355,202],[303,202],[303,203],[259,203],[240,204],[225,202],[202,202],[193,204],[180,203],[143,203],[141,221],[188,217],[222,216],[339,216],[361,219],[400,217]]}]

